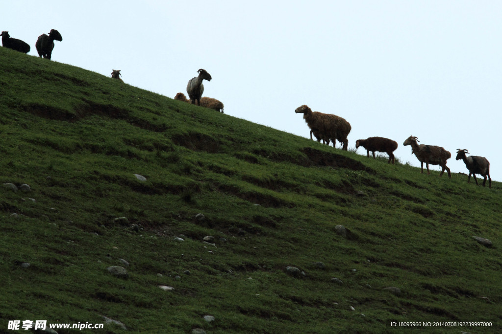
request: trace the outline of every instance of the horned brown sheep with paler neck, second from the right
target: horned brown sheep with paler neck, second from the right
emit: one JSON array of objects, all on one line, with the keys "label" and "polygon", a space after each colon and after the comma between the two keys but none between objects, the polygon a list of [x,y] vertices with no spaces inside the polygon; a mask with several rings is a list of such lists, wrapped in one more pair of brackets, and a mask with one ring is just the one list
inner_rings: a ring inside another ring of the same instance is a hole
[{"label": "horned brown sheep with paler neck, second from the right", "polygon": [[403,143],[404,146],[410,145],[412,149],[412,154],[417,156],[418,161],[420,161],[422,171],[424,172],[424,162],[427,167],[427,174],[429,172],[429,164],[431,165],[439,165],[441,166],[441,173],[439,173],[439,177],[443,176],[443,173],[446,169],[448,172],[448,177],[451,178],[450,169],[446,166],[446,160],[451,158],[451,153],[446,151],[443,147],[433,146],[433,145],[418,145],[417,142],[420,142],[417,137],[410,136]]}]

